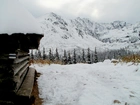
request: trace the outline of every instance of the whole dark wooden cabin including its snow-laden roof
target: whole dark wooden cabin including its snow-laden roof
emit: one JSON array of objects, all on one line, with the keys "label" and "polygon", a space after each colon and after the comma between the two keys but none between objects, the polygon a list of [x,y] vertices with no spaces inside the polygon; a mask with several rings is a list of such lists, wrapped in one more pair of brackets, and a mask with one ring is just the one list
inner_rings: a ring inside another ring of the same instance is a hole
[{"label": "whole dark wooden cabin including its snow-laden roof", "polygon": [[43,34],[17,0],[0,1],[0,14],[0,105],[28,105],[35,77],[29,49],[38,49]]}]

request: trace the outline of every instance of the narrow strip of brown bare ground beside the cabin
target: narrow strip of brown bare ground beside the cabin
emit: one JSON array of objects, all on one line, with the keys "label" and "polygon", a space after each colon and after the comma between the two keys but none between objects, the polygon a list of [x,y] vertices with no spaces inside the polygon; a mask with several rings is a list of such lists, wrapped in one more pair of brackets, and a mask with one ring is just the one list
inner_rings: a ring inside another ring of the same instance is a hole
[{"label": "narrow strip of brown bare ground beside the cabin", "polygon": [[39,97],[39,90],[37,84],[37,78],[40,76],[40,73],[36,73],[35,83],[32,91],[32,105],[42,105],[42,99]]}]

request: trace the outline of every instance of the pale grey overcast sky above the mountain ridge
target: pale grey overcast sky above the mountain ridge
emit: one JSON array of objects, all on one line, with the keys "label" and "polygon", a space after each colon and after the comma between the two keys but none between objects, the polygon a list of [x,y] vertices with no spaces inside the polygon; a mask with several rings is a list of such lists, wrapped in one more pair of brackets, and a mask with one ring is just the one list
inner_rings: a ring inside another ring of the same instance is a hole
[{"label": "pale grey overcast sky above the mountain ridge", "polygon": [[19,0],[35,17],[54,12],[62,17],[96,22],[140,21],[140,0]]}]

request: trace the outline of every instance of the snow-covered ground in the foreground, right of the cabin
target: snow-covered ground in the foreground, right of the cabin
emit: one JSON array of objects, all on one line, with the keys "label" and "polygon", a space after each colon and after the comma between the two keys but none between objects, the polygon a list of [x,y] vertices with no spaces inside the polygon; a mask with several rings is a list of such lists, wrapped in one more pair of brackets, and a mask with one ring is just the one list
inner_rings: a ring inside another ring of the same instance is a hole
[{"label": "snow-covered ground in the foreground, right of the cabin", "polygon": [[140,105],[140,65],[31,65],[43,105]]}]

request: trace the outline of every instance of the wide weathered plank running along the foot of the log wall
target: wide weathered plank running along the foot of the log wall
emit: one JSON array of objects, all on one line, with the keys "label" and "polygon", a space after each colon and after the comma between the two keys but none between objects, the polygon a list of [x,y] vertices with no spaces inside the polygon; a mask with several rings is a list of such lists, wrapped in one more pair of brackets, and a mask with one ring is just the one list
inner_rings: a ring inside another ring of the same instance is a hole
[{"label": "wide weathered plank running along the foot of the log wall", "polygon": [[24,96],[30,99],[31,92],[33,89],[33,84],[35,80],[35,69],[29,68],[28,73],[20,87],[20,89],[17,92],[17,95]]}]

